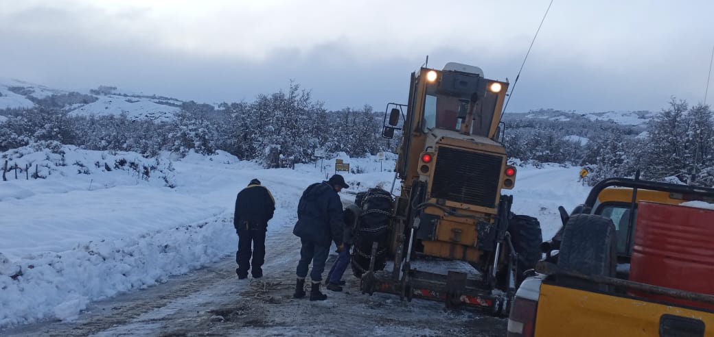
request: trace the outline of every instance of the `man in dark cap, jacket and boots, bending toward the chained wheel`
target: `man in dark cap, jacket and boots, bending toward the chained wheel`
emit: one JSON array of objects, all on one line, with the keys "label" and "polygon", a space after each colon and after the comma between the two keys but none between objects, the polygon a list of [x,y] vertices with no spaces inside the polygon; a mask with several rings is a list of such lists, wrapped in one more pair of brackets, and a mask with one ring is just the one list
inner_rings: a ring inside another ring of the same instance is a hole
[{"label": "man in dark cap, jacket and boots, bending toward the chained wheel", "polygon": [[320,292],[320,282],[331,242],[335,242],[337,252],[344,249],[342,232],[345,224],[338,192],[347,187],[349,185],[341,175],[333,175],[328,181],[308,186],[300,197],[298,222],[293,229],[293,234],[300,237],[302,243],[296,272],[298,281],[293,295],[296,299],[305,296],[305,277],[308,275],[310,262],[313,264],[310,274],[310,301],[327,299],[327,296]]}]

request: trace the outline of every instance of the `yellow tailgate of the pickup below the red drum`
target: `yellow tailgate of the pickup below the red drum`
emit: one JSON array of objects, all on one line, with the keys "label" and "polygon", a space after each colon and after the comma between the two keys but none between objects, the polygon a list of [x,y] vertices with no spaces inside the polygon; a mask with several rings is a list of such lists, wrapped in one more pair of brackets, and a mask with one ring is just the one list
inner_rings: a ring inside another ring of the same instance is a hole
[{"label": "yellow tailgate of the pickup below the red drum", "polygon": [[714,313],[542,284],[535,336],[714,336]]}]

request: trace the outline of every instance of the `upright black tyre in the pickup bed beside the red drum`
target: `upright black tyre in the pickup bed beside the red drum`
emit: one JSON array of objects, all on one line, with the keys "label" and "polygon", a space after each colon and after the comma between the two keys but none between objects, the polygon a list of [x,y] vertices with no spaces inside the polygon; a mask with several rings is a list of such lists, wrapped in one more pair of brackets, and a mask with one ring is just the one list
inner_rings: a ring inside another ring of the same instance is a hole
[{"label": "upright black tyre in the pickup bed beside the red drum", "polygon": [[[614,277],[617,269],[615,225],[595,214],[575,214],[563,228],[558,266],[580,274]],[[608,286],[558,276],[568,286],[608,291]]]}]

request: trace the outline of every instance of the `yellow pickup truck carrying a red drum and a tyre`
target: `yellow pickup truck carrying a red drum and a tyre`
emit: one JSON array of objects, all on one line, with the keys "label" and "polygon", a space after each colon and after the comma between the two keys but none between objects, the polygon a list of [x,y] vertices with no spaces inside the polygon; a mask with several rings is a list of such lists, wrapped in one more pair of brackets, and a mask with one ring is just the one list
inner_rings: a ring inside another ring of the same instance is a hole
[{"label": "yellow pickup truck carrying a red drum and a tyre", "polygon": [[613,178],[560,207],[508,336],[714,336],[714,209],[685,202],[714,189]]}]

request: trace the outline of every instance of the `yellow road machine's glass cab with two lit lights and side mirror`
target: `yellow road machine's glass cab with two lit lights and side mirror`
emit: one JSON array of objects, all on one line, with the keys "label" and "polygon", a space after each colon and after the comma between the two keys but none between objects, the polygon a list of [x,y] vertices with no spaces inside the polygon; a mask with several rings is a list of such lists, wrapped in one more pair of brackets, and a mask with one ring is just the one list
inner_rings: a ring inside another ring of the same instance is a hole
[{"label": "yellow road machine's glass cab with two lit lights and side mirror", "polygon": [[392,138],[394,130],[402,130],[396,166],[399,177],[418,179],[418,157],[429,146],[436,147],[438,137],[488,143],[488,150],[503,152],[496,147],[503,147],[498,142],[498,125],[507,89],[508,82],[487,79],[481,68],[462,63],[412,73],[408,104],[388,104],[382,133]]}]

